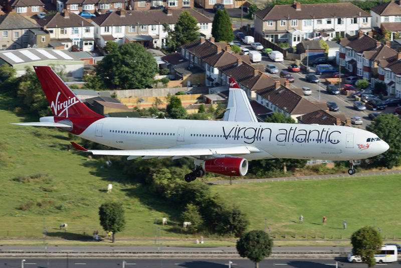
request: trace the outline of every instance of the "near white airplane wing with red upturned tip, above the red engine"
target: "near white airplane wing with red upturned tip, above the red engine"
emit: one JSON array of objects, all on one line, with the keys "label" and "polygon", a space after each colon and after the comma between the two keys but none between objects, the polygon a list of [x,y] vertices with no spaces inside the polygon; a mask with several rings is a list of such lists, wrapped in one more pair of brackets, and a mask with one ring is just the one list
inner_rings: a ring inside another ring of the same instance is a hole
[{"label": "near white airplane wing with red upturned tip, above the red engine", "polygon": [[214,156],[214,155],[246,155],[251,153],[258,153],[260,150],[254,146],[248,145],[181,145],[174,146],[167,149],[151,149],[151,150],[86,150],[82,146],[72,142],[74,148],[81,152],[88,152],[94,155],[108,155],[108,156],[128,156],[128,160],[138,157],[142,159],[151,158],[169,158],[173,159],[181,157],[199,157],[199,156]]}]

